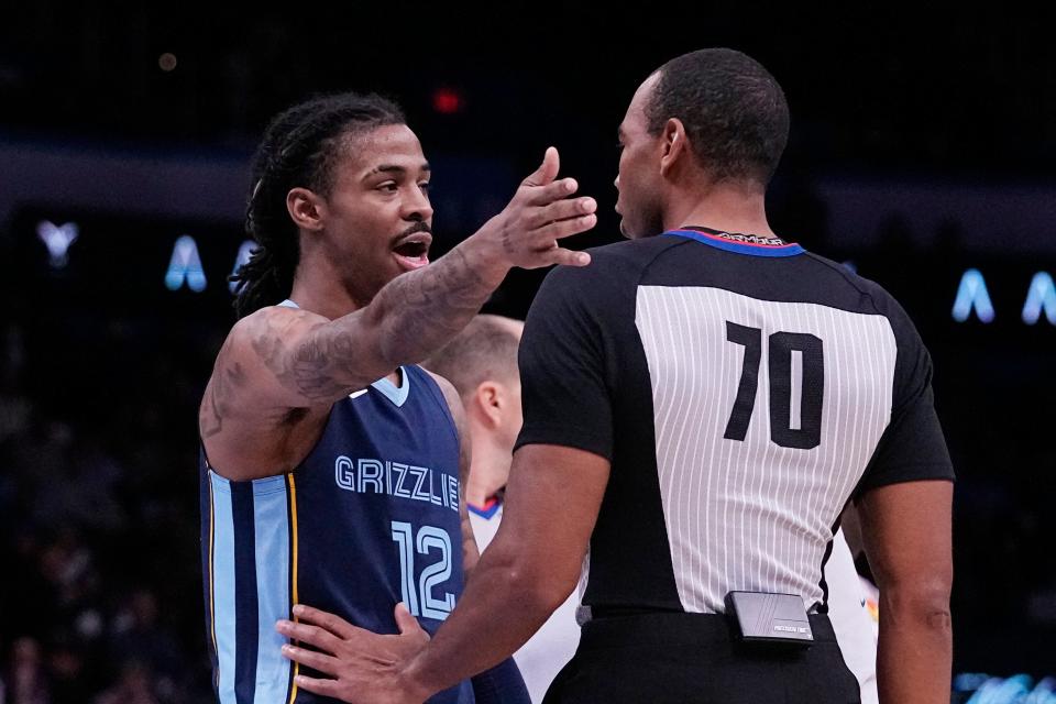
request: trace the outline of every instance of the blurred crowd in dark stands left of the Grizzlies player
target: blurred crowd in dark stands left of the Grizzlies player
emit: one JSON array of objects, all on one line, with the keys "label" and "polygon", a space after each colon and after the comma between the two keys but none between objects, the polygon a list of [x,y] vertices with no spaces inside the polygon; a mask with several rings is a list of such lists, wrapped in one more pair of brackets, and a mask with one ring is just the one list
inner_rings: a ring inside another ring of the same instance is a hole
[{"label": "blurred crowd in dark stands left of the Grizzlies player", "polygon": [[0,328],[0,704],[208,701],[189,382],[145,356],[31,394],[23,341]]}]

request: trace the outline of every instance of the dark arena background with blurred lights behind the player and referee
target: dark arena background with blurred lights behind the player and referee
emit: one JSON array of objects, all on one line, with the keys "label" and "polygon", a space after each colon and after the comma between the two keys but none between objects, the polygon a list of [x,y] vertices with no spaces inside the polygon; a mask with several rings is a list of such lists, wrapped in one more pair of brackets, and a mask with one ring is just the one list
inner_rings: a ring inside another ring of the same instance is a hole
[{"label": "dark arena background with blurred lights behind the player and referee", "polygon": [[[553,144],[600,202],[585,248],[619,237],[634,89],[703,46],[755,56],[789,97],[778,233],[891,290],[932,351],[958,473],[953,700],[1056,702],[1042,18],[219,6],[0,13],[0,702],[208,701],[197,405],[234,319],[226,277],[248,252],[249,161],[272,114],[322,91],[399,100],[433,167],[433,257]],[[514,272],[485,310],[522,317],[543,274]]]}]

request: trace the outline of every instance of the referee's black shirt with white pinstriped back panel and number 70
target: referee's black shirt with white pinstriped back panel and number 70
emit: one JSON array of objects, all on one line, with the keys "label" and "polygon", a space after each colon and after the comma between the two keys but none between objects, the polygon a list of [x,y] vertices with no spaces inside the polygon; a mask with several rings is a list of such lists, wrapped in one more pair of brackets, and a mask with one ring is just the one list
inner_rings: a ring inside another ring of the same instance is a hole
[{"label": "referee's black shirt with white pinstriped back panel and number 70", "polygon": [[583,603],[719,613],[743,590],[824,610],[848,498],[953,479],[912,322],[780,240],[694,229],[592,255],[550,274],[520,350],[518,446],[612,462]]}]

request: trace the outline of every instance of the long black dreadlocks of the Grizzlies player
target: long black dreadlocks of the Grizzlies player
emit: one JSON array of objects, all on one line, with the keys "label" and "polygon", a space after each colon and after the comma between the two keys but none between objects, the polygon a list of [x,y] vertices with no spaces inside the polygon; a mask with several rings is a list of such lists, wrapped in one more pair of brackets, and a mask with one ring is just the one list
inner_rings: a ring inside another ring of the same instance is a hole
[{"label": "long black dreadlocks of the Grizzlies player", "polygon": [[250,261],[231,276],[239,318],[289,295],[300,261],[298,230],[286,210],[292,188],[329,195],[333,167],[350,135],[406,124],[399,107],[381,96],[344,92],[312,98],[278,114],[253,158],[245,231],[256,242]]}]

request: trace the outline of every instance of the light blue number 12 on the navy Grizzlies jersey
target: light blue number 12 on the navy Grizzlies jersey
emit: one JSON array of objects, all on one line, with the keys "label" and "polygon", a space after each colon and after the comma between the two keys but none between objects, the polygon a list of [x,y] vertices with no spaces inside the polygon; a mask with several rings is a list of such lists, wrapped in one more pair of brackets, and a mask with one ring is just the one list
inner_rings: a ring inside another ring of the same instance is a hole
[{"label": "light blue number 12 on the navy Grizzlies jersey", "polygon": [[[393,521],[393,540],[399,546],[399,584],[404,604],[413,616],[443,620],[454,608],[454,594],[444,592],[440,598],[433,594],[439,584],[451,578],[451,537],[436,526],[418,529],[417,540],[410,524]],[[417,550],[416,550],[417,548]],[[428,556],[440,551],[440,559],[422,569],[415,581],[415,552]]]}]

